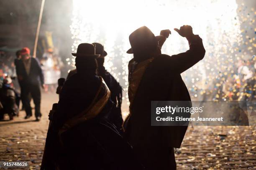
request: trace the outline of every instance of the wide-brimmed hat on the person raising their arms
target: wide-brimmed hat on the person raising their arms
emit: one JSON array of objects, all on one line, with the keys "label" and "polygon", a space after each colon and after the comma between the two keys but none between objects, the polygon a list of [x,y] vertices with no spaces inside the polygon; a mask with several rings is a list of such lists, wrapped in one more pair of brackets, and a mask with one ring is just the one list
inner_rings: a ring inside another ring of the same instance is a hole
[{"label": "wide-brimmed hat on the person raising their arms", "polygon": [[163,39],[164,36],[155,36],[149,28],[143,26],[133,31],[129,36],[131,48],[126,53],[133,54],[134,51],[150,51],[157,47],[158,41]]}]

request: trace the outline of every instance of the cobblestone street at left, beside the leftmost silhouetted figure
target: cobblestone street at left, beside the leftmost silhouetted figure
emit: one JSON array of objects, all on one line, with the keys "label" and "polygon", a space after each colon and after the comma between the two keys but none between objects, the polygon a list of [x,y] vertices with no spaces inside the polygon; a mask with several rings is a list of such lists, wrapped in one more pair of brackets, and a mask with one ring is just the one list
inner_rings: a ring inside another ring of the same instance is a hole
[{"label": "cobblestone street at left, beside the leftmost silhouetted figure", "polygon": [[[34,115],[25,120],[24,111],[13,121],[0,122],[0,160],[30,161],[30,169],[40,169],[49,124],[48,113],[52,104],[58,102],[58,95],[43,93],[42,99],[40,122],[34,121]],[[34,110],[32,112],[34,114]]]}]

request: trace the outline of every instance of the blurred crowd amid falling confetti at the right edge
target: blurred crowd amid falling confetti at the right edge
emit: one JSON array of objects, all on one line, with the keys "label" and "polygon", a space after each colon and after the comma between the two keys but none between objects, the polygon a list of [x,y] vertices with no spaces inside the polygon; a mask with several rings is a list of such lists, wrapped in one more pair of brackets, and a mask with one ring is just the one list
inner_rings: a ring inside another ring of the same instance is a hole
[{"label": "blurred crowd amid falling confetti at the right edge", "polygon": [[[238,60],[233,70],[219,72],[219,76],[212,81],[205,80],[205,86],[196,82],[190,87],[189,93],[193,100],[218,100],[218,101],[253,101],[255,100],[255,69],[256,58],[252,56],[250,60]],[[207,73],[208,77],[211,72]],[[196,87],[201,87],[196,88]]]}]

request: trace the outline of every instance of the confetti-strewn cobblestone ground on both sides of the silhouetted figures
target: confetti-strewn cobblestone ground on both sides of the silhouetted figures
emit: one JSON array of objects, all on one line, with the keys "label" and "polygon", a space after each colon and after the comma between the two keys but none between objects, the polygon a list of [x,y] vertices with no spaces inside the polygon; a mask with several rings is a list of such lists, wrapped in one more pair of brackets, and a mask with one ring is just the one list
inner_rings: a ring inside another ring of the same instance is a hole
[{"label": "confetti-strewn cobblestone ground on both sides of the silhouetted figures", "polygon": [[[13,121],[0,122],[0,160],[29,161],[29,169],[40,168],[47,115],[58,96],[43,94],[42,98],[40,122],[33,121],[35,117],[24,120],[23,111]],[[189,127],[182,148],[175,153],[178,170],[256,170],[256,127]]]}]

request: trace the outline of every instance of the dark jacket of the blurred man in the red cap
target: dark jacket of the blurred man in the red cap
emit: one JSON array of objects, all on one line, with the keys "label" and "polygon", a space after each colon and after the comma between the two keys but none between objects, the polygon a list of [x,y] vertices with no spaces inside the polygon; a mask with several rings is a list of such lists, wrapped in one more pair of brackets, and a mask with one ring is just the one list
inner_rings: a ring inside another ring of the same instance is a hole
[{"label": "dark jacket of the blurred man in the red cap", "polygon": [[44,84],[44,74],[41,69],[38,59],[31,57],[31,67],[29,75],[26,72],[25,66],[22,60],[15,60],[16,73],[20,87],[27,85],[41,85]]}]

